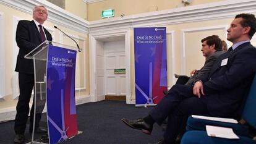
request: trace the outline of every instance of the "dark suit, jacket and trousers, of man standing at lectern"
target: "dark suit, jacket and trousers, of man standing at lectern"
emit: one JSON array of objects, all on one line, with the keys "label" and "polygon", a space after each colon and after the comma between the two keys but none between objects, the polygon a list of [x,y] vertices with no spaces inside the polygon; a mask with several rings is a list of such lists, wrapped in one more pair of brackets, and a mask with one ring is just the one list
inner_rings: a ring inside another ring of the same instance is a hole
[{"label": "dark suit, jacket and trousers, of man standing at lectern", "polygon": [[[48,30],[44,29],[46,40],[52,41],[53,38]],[[15,124],[14,130],[16,134],[22,134],[25,132],[27,117],[29,112],[29,101],[32,94],[32,90],[34,87],[34,67],[32,59],[25,59],[25,54],[30,53],[33,49],[35,49],[38,45],[40,45],[43,41],[41,41],[41,36],[38,31],[38,28],[35,25],[35,22],[28,20],[20,20],[17,25],[16,31],[16,42],[19,46],[19,54],[17,56],[17,64],[15,71],[19,72],[19,87],[20,87],[20,95],[19,101],[16,106],[17,114],[15,116]],[[44,61],[42,61],[44,62]],[[44,68],[43,68],[44,69]],[[41,70],[42,72],[45,71]],[[38,77],[36,77],[38,78]],[[36,101],[38,103],[38,101]],[[35,124],[36,127],[39,127],[39,121],[41,119],[41,111],[43,111],[43,107],[45,106],[45,101],[41,101],[42,106],[36,109],[36,119]],[[33,124],[33,110],[34,110],[34,101],[32,104],[32,108],[30,111],[30,131],[32,131]]]}]

